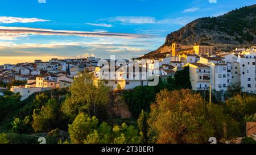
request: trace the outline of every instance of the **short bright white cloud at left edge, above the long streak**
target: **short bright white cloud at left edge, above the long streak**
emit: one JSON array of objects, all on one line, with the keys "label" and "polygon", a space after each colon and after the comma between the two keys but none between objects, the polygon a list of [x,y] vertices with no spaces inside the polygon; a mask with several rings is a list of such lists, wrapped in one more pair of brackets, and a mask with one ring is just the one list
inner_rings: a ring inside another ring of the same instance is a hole
[{"label": "short bright white cloud at left edge, above the long streak", "polygon": [[38,18],[20,18],[13,16],[0,16],[0,23],[35,23],[35,22],[49,22],[50,20]]}]

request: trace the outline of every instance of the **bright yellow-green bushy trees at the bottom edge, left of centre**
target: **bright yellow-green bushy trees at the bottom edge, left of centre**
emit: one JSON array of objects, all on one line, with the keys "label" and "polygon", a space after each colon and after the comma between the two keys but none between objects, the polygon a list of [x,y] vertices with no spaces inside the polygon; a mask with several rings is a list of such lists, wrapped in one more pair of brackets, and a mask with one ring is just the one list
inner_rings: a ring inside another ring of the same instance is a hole
[{"label": "bright yellow-green bushy trees at the bottom edge, left of centre", "polygon": [[125,123],[114,125],[111,128],[107,123],[98,126],[98,119],[93,116],[81,113],[77,115],[68,129],[71,143],[75,144],[134,144],[140,143],[138,130],[134,126],[127,126]]}]

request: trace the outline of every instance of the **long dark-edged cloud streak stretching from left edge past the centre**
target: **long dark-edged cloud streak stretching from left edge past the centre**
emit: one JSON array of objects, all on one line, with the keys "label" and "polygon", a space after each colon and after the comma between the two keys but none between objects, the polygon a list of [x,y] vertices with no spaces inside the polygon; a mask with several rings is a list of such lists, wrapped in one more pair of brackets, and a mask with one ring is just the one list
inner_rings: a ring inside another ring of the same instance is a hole
[{"label": "long dark-edged cloud streak stretching from left edge past the centre", "polygon": [[65,30],[50,30],[42,28],[28,28],[28,27],[3,27],[0,26],[1,40],[14,40],[19,37],[26,37],[28,35],[59,35],[59,36],[81,36],[81,37],[124,37],[124,38],[138,38],[148,37],[146,35],[137,35],[131,33],[109,33],[109,32],[88,32],[88,31],[65,31]]}]

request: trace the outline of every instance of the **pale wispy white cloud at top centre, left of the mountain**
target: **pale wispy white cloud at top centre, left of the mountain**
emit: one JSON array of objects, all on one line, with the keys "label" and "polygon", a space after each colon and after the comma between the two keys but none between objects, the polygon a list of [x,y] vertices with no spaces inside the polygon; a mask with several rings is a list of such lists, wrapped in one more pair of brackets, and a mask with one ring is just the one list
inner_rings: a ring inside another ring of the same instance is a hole
[{"label": "pale wispy white cloud at top centre, left of the mountain", "polygon": [[107,19],[108,22],[120,22],[122,24],[154,24],[156,19],[151,16],[115,16]]}]

